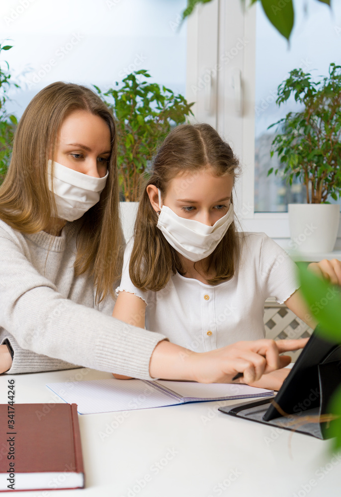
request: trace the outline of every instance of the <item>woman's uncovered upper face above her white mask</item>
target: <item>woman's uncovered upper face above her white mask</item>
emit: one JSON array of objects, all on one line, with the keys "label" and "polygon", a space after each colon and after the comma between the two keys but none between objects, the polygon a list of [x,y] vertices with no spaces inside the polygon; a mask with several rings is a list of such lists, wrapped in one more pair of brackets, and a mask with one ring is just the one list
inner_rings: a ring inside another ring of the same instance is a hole
[{"label": "woman's uncovered upper face above her white mask", "polygon": [[76,110],[65,118],[56,141],[55,162],[102,178],[110,154],[110,130],[101,117]]}]

